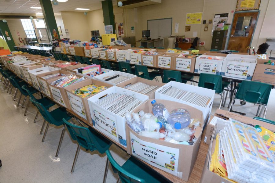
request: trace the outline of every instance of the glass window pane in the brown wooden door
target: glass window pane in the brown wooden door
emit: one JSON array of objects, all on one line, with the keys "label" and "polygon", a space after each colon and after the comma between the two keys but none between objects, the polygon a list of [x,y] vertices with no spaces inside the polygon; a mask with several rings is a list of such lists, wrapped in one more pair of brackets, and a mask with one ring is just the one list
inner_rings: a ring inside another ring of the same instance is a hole
[{"label": "glass window pane in the brown wooden door", "polygon": [[240,16],[238,17],[234,36],[248,37],[253,16]]}]

